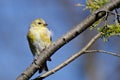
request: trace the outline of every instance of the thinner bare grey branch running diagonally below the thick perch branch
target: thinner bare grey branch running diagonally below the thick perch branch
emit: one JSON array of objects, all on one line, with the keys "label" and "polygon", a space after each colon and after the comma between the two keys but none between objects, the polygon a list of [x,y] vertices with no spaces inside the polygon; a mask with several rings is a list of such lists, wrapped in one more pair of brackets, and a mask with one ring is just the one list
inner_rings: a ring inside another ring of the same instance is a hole
[{"label": "thinner bare grey branch running diagonally below the thick perch branch", "polygon": [[64,66],[68,65],[70,62],[72,62],[73,60],[77,59],[79,56],[81,56],[82,54],[85,53],[85,51],[92,46],[93,43],[95,43],[95,41],[101,36],[101,33],[98,33],[95,37],[93,37],[89,43],[82,49],[80,50],[78,53],[74,54],[73,56],[71,56],[69,59],[67,59],[66,61],[64,61],[63,63],[61,63],[60,65],[58,65],[57,67],[55,67],[54,69],[46,72],[45,74],[37,77],[34,80],[41,80],[43,78],[46,78],[47,76],[54,74],[56,71],[60,70],[61,68],[63,68]]}]

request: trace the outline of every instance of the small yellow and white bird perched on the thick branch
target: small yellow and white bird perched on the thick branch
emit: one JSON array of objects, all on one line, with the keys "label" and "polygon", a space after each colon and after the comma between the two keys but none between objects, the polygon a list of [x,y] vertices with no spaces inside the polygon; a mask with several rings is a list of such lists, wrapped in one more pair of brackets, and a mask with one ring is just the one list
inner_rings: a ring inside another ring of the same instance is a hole
[{"label": "small yellow and white bird perched on the thick branch", "polygon": [[[44,48],[51,44],[51,31],[47,28],[47,24],[43,19],[38,18],[31,23],[27,39],[34,57],[38,56]],[[48,60],[51,61],[51,59]],[[39,72],[41,73],[42,70],[48,71],[46,62]]]}]

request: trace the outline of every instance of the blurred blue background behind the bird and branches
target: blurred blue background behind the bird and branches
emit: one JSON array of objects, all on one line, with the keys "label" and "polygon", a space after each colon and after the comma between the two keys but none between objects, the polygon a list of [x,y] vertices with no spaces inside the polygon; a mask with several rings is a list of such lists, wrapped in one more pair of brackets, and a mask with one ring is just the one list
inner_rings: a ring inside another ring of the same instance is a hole
[{"label": "blurred blue background behind the bird and branches", "polygon": [[[71,30],[90,13],[85,0],[0,0],[0,80],[15,80],[32,62],[26,34],[30,23],[43,18],[53,41]],[[78,52],[96,34],[86,30],[59,49],[48,62],[49,70]],[[120,53],[120,37],[99,39],[91,49]],[[45,72],[43,72],[45,73]],[[120,58],[104,53],[85,54],[45,80],[120,80]],[[39,74],[36,73],[35,78]]]}]

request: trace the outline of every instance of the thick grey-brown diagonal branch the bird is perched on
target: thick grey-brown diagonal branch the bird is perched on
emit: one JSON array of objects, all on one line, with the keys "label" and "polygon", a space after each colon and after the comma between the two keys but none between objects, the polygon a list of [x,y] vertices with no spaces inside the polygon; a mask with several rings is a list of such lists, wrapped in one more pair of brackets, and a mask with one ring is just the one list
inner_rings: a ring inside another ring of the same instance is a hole
[{"label": "thick grey-brown diagonal branch the bird is perched on", "polygon": [[[80,33],[89,28],[94,22],[105,16],[105,11],[112,11],[113,9],[120,6],[120,0],[114,0],[111,3],[105,5],[103,8],[97,10],[84,21],[78,24],[74,29],[67,32],[57,41],[53,42],[49,47],[42,51],[38,59],[35,59],[33,63],[18,77],[17,80],[28,80],[30,79],[38,70],[42,68],[43,63],[54,54],[59,48],[68,43],[70,40],[78,36]],[[100,11],[100,12],[99,12]]]}]

